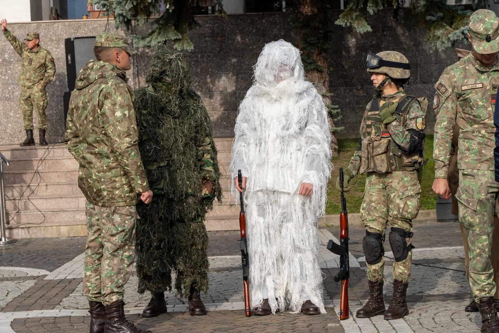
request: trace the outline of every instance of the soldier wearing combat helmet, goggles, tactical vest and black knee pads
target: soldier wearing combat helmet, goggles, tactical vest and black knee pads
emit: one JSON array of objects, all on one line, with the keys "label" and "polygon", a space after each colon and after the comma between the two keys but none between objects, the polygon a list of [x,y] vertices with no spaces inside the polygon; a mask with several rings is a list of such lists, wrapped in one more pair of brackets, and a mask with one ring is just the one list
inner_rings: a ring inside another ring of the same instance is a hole
[{"label": "soldier wearing combat helmet, goggles, tactical vest and black knee pads", "polygon": [[[406,303],[412,261],[412,219],[419,212],[423,166],[426,97],[406,94],[403,85],[411,75],[409,60],[396,51],[369,53],[367,71],[372,74],[376,94],[367,104],[360,125],[360,141],[350,164],[344,169],[348,181],[367,172],[365,195],[360,208],[366,226],[362,246],[367,261],[370,298],[357,311],[366,318],[384,314],[399,319],[409,313]],[[339,179],[336,180],[339,187]],[[348,186],[347,186],[348,188]],[[393,264],[393,299],[385,310],[383,269],[385,231],[388,222]]]}]

